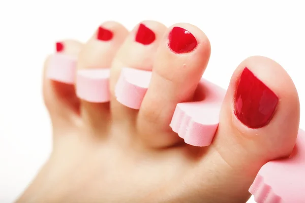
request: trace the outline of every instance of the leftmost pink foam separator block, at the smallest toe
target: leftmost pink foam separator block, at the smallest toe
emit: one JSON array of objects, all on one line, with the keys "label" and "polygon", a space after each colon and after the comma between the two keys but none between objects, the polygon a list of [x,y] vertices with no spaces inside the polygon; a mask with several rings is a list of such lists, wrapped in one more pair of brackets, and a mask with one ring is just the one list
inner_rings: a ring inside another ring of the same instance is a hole
[{"label": "leftmost pink foam separator block, at the smallest toe", "polygon": [[67,83],[74,84],[76,58],[65,54],[53,54],[50,57],[47,69],[47,78]]}]

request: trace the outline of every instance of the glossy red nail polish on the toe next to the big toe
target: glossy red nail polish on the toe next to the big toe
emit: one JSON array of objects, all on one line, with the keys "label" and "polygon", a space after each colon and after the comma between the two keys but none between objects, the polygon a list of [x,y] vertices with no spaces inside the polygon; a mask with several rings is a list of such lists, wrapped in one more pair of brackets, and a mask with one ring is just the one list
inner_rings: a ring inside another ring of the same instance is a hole
[{"label": "glossy red nail polish on the toe next to the big toe", "polygon": [[191,32],[182,27],[173,27],[168,39],[169,48],[178,54],[191,52],[197,46],[196,38]]}]

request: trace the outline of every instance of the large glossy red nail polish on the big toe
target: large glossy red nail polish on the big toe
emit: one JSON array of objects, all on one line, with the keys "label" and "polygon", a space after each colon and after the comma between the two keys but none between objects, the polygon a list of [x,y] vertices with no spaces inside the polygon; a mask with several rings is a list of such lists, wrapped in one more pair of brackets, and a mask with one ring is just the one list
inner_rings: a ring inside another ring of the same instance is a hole
[{"label": "large glossy red nail polish on the big toe", "polygon": [[272,119],[278,102],[278,96],[245,67],[236,89],[236,117],[250,128],[263,127]]}]

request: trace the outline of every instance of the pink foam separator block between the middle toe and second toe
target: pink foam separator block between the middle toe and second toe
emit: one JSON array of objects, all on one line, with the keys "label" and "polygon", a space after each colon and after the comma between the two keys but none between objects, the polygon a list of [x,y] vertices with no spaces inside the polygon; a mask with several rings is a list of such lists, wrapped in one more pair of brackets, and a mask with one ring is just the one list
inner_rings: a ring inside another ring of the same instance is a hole
[{"label": "pink foam separator block between the middle toe and second toe", "polygon": [[115,96],[119,103],[132,108],[140,109],[142,100],[147,91],[151,72],[125,67],[115,87]]}]

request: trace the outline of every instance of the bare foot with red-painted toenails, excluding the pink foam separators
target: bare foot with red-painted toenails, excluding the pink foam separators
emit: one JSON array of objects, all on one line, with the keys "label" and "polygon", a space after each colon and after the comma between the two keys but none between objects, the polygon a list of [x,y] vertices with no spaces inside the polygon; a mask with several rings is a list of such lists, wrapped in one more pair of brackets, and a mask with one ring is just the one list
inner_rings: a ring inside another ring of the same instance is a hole
[{"label": "bare foot with red-painted toenails, excluding the pink foam separators", "polygon": [[[200,29],[144,21],[128,33],[106,22],[85,45],[63,41],[57,48],[46,70],[58,55],[78,72],[111,67],[109,101],[79,99],[72,69],[62,82],[46,71],[53,151],[17,202],[246,202],[259,169],[292,152],[298,95],[271,59],[253,56],[238,65],[214,140],[194,147],[170,122],[176,105],[193,99],[208,63],[210,43]],[[116,99],[123,67],[152,71],[139,110]]]}]

